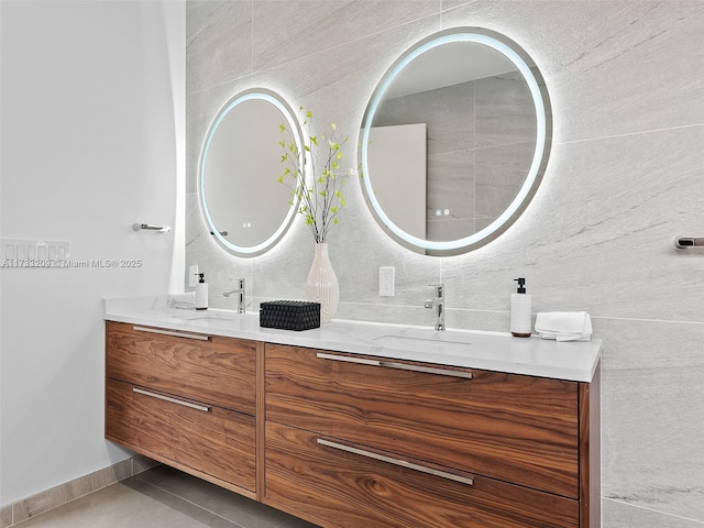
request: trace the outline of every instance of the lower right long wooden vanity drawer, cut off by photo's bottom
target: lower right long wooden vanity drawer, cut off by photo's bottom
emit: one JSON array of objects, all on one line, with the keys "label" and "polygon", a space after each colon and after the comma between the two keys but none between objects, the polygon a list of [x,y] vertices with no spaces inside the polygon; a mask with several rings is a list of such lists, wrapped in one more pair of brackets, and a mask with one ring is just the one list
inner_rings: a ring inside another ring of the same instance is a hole
[{"label": "lower right long wooden vanity drawer, cut off by photo's bottom", "polygon": [[579,526],[578,502],[570,498],[476,475],[457,482],[444,472],[436,476],[369,458],[365,447],[354,447],[359,454],[334,446],[333,438],[267,422],[266,502],[326,527]]}]

